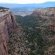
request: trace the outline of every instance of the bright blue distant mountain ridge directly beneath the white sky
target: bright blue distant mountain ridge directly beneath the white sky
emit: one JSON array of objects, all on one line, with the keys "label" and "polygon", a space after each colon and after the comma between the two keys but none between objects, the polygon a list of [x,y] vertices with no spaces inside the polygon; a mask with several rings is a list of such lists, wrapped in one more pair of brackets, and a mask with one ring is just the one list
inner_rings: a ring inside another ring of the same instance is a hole
[{"label": "bright blue distant mountain ridge directly beneath the white sky", "polygon": [[55,2],[45,2],[41,4],[1,4],[0,6],[7,8],[46,8],[55,7]]}]

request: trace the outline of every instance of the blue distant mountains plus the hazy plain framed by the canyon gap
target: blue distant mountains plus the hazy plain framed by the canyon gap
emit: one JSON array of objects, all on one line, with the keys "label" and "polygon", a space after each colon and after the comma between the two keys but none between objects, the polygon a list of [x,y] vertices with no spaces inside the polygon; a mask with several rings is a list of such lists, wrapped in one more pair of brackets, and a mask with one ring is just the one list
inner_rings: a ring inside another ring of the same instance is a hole
[{"label": "blue distant mountains plus the hazy plain framed by the canyon gap", "polygon": [[55,7],[55,2],[45,2],[41,4],[1,4],[0,7],[10,8],[15,15],[28,15],[37,8]]}]

